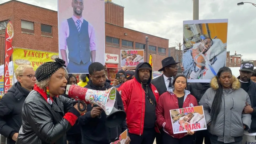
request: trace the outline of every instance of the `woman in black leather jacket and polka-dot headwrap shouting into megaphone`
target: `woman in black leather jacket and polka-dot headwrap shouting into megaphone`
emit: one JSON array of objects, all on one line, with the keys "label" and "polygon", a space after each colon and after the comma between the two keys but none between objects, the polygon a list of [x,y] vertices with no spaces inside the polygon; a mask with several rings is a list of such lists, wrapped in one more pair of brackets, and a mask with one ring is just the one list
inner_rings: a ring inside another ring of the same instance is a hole
[{"label": "woman in black leather jacket and polka-dot headwrap shouting into megaphone", "polygon": [[[66,144],[66,131],[85,113],[62,96],[67,83],[65,61],[56,58],[36,69],[36,84],[22,107],[22,126],[16,144]],[[66,114],[65,114],[66,113]]]}]

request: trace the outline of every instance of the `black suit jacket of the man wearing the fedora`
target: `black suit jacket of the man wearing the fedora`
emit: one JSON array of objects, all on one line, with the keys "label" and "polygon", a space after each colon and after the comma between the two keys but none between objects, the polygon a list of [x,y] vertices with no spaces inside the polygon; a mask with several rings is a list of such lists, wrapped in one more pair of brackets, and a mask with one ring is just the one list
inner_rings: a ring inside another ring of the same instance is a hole
[{"label": "black suit jacket of the man wearing the fedora", "polygon": [[160,77],[152,79],[151,83],[157,88],[157,91],[159,92],[159,96],[167,91],[163,74]]}]

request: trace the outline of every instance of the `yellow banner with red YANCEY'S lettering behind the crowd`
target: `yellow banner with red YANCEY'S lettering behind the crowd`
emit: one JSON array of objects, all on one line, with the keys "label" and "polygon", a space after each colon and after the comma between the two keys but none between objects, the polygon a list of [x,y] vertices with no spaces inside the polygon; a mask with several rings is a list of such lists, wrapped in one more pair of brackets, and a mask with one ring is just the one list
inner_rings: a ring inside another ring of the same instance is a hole
[{"label": "yellow banner with red YANCEY'S lettering behind the crowd", "polygon": [[36,70],[38,66],[45,62],[54,61],[54,59],[58,58],[58,56],[58,53],[14,48],[12,54],[14,71],[20,65],[31,65],[33,69]]}]

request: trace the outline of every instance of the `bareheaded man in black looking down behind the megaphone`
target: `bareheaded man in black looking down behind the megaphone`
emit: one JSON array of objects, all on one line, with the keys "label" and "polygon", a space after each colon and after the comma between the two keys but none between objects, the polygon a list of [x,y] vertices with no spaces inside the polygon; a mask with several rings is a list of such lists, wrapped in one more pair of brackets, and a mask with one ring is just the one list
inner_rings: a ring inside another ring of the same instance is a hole
[{"label": "bareheaded man in black looking down behind the megaphone", "polygon": [[[89,66],[89,82],[85,87],[92,90],[110,89],[110,81],[106,79],[105,67],[94,62]],[[124,110],[120,94],[116,94],[116,109]],[[97,105],[88,105],[87,113],[79,117],[78,125],[81,126],[82,144],[109,144],[127,129],[126,120],[123,120],[120,126],[108,128],[105,125],[106,114],[101,107]],[[129,144],[130,138],[126,141]]]}]

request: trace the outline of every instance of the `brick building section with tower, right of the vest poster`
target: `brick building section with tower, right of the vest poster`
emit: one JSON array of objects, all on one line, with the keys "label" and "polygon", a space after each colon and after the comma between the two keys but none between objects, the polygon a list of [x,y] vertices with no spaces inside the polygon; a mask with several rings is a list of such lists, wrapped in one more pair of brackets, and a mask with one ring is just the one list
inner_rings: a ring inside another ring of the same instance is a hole
[{"label": "brick building section with tower, right of the vest poster", "polygon": [[[144,61],[146,62],[147,37],[149,45],[148,59],[151,54],[153,71],[159,70],[162,67],[162,59],[168,57],[169,40],[123,27],[123,12],[124,7],[114,4],[111,1],[105,2],[105,53],[118,54],[120,63],[120,50],[144,49]],[[120,64],[118,67],[121,67]]]}]

